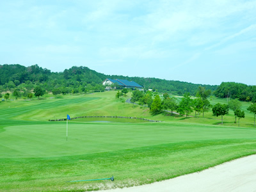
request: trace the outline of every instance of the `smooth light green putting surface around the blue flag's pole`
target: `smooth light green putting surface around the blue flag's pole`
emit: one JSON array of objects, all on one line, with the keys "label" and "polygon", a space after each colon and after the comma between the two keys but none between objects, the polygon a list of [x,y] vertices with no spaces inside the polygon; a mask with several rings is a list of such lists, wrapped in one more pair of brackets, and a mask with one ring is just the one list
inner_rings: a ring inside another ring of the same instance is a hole
[{"label": "smooth light green putting surface around the blue flag's pole", "polygon": [[6,127],[0,157],[59,157],[201,140],[253,139],[255,129],[177,123],[66,123]]}]

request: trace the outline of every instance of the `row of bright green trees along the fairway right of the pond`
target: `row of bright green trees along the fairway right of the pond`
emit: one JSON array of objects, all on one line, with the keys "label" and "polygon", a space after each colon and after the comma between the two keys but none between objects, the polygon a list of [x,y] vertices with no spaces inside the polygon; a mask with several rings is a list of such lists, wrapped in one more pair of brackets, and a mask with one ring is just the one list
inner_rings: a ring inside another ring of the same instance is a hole
[{"label": "row of bright green trees along the fairway right of the pond", "polygon": [[[116,98],[119,98],[120,95],[122,95],[122,92],[116,93]],[[198,88],[194,99],[191,99],[191,94],[188,92],[184,93],[180,101],[178,101],[176,97],[170,97],[168,93],[164,93],[161,99],[157,92],[134,90],[132,92],[131,102],[133,104],[137,102],[141,106],[148,106],[152,115],[166,112],[172,115],[174,111],[176,111],[179,115],[186,115],[186,118],[188,118],[193,111],[195,111],[195,117],[198,117],[198,115],[202,113],[204,118],[204,113],[212,109],[214,116],[221,116],[221,124],[223,124],[223,116],[227,115],[229,109],[231,109],[234,111],[234,123],[236,124],[238,122],[238,125],[240,125],[240,119],[245,117],[244,111],[241,110],[241,102],[232,99],[228,104],[217,103],[212,106],[208,100],[210,95],[211,90],[206,90],[203,86]],[[252,103],[247,110],[254,114],[255,126],[256,103]]]}]

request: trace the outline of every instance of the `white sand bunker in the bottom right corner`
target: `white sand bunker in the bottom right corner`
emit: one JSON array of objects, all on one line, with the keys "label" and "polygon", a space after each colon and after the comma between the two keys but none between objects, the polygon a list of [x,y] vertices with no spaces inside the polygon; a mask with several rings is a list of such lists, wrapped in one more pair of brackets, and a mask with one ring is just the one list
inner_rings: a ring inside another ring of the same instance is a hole
[{"label": "white sand bunker in the bottom right corner", "polygon": [[256,155],[170,180],[104,192],[108,191],[256,191]]}]

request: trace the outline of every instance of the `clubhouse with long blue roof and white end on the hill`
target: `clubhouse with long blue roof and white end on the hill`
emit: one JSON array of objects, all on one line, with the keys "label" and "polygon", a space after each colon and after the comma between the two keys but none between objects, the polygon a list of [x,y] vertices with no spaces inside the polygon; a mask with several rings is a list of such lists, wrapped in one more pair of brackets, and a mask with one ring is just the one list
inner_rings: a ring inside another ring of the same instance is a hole
[{"label": "clubhouse with long blue roof and white end on the hill", "polygon": [[104,86],[106,86],[106,90],[109,90],[111,89],[110,88],[110,85],[111,84],[116,84],[118,86],[122,86],[124,88],[138,88],[138,89],[141,89],[142,86],[134,81],[127,81],[125,79],[105,79],[102,84]]}]

